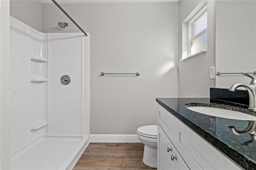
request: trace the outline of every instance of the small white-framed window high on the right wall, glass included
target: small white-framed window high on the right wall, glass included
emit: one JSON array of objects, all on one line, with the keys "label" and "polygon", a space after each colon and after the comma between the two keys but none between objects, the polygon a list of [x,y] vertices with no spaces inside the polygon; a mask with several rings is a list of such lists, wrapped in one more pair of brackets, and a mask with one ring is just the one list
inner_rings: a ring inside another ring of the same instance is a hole
[{"label": "small white-framed window high on the right wall, glass included", "polygon": [[200,3],[182,22],[182,60],[207,51],[207,4]]}]

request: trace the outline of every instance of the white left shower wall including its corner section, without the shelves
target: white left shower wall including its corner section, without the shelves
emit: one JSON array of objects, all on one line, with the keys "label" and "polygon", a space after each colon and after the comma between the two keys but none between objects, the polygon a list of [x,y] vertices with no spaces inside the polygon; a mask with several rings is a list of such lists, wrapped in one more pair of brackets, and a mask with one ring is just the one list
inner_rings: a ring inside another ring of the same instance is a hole
[{"label": "white left shower wall including its corner section, without the shelves", "polygon": [[47,78],[47,63],[30,60],[48,58],[48,34],[41,33],[10,16],[10,154],[48,135],[47,126],[31,130],[31,125],[47,121],[47,83],[31,78]]}]

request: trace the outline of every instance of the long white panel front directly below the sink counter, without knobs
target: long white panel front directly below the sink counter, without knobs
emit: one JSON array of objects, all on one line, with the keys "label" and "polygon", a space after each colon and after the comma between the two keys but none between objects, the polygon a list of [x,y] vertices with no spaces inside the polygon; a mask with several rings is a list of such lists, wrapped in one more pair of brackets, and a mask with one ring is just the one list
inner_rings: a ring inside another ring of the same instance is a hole
[{"label": "long white panel front directly below the sink counter, without knobs", "polygon": [[236,163],[214,148],[184,123],[174,121],[175,140],[172,143],[191,169],[239,170]]}]

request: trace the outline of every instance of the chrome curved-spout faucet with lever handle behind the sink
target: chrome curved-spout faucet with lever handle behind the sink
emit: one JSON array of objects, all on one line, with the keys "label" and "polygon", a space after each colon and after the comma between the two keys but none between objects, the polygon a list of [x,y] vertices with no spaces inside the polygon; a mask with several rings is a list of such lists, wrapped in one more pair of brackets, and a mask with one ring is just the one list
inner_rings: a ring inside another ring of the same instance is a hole
[{"label": "chrome curved-spout faucet with lever handle behind the sink", "polygon": [[243,84],[243,83],[237,83],[232,85],[229,88],[229,91],[236,91],[236,89],[238,87],[244,87],[249,94],[249,107],[248,109],[251,111],[256,111],[256,79],[254,77],[252,77],[251,75],[242,72],[243,75],[246,75],[248,77],[250,77],[252,80],[250,81],[250,85],[247,84]]}]

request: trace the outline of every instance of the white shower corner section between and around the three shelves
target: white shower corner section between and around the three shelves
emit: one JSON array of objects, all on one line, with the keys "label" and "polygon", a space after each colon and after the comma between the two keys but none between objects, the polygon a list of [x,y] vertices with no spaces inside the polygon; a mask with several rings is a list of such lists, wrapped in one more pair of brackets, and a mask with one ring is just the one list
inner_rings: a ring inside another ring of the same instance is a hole
[{"label": "white shower corner section between and around the three shelves", "polygon": [[[41,33],[31,28],[30,55],[48,59],[48,34]],[[30,60],[30,77],[47,78],[48,63]],[[48,82],[30,83],[30,118],[31,125],[48,121]],[[31,142],[48,135],[48,127],[31,130]]]}]

